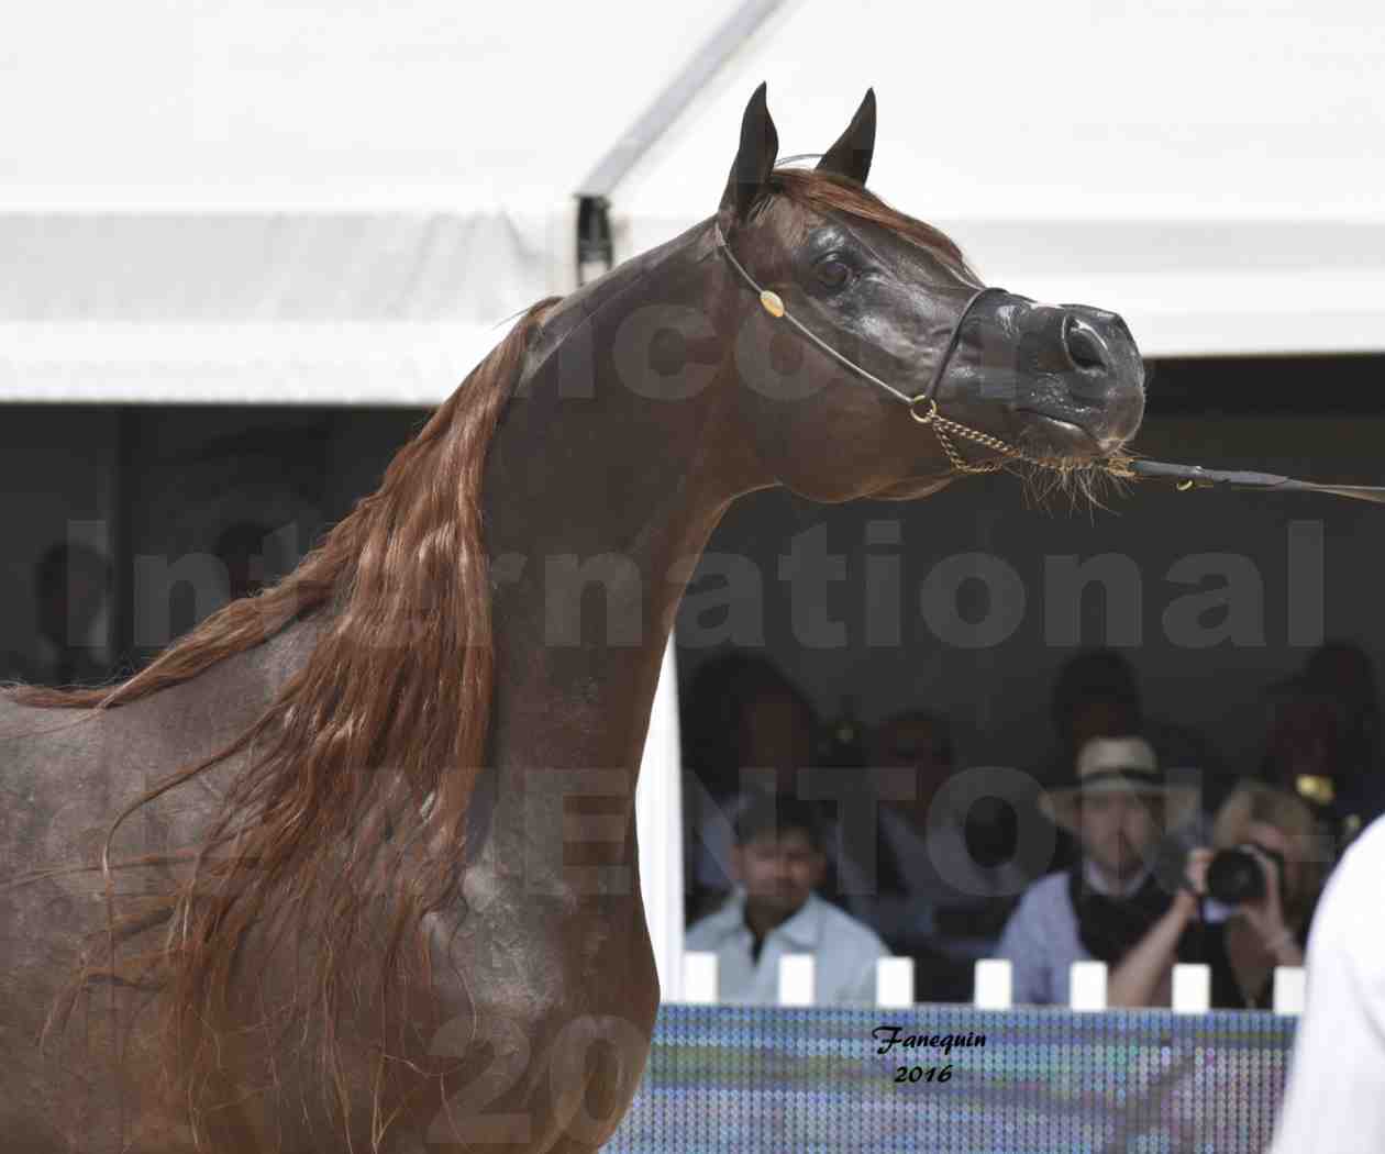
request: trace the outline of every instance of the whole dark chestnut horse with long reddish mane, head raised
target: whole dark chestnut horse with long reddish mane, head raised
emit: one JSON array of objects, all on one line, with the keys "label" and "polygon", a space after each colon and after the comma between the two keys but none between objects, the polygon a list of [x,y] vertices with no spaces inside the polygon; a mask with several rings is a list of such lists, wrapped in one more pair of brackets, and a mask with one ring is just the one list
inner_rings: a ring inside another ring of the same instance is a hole
[{"label": "whole dark chestnut horse with long reddish mane, head raised", "polygon": [[1120,319],[983,290],[874,137],[867,93],[776,166],[762,85],[716,215],[529,309],[292,574],[4,691],[7,1150],[609,1137],[659,1002],[636,776],[727,506],[1096,474],[1143,416]]}]

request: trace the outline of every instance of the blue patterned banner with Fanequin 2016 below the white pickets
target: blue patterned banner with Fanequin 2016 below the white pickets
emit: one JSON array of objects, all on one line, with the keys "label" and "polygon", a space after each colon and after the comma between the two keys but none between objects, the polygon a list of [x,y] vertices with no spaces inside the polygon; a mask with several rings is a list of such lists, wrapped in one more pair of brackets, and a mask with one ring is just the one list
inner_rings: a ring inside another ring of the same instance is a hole
[{"label": "blue patterned banner with Fanequin 2016 below the white pickets", "polygon": [[1262,1154],[1296,1018],[663,1006],[622,1154]]}]

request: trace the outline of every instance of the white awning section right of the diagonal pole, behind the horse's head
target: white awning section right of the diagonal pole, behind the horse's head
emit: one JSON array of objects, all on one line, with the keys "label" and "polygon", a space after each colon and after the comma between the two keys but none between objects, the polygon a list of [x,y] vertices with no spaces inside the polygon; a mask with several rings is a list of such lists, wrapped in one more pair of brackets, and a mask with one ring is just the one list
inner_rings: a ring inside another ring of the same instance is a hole
[{"label": "white awning section right of the diagonal pole, behind the horse's head", "polygon": [[870,187],[988,283],[1114,309],[1145,355],[1385,350],[1382,75],[1353,0],[802,0],[616,186],[616,252],[715,212],[762,80],[781,157],[874,86]]}]

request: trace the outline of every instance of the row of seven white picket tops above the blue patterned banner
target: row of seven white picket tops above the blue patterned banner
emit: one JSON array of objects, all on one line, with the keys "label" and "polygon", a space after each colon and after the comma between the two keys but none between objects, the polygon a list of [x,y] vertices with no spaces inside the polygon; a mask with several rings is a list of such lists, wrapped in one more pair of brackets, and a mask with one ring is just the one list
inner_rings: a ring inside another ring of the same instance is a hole
[{"label": "row of seven white picket tops above the blue patterned banner", "polygon": [[[1069,981],[1069,1009],[1107,1009],[1107,963],[1075,961]],[[1176,1014],[1205,1014],[1210,1009],[1212,971],[1206,966],[1173,967],[1173,1011]],[[715,953],[683,955],[684,1003],[716,1004],[717,967]],[[791,953],[780,959],[780,1006],[812,1006],[813,955]],[[882,957],[875,963],[875,1004],[903,1009],[914,1004],[914,960],[911,957]],[[1008,1010],[1011,999],[1010,963],[988,959],[976,963],[975,997],[978,1010]],[[1303,1013],[1303,968],[1280,966],[1274,970],[1274,1013]]]}]

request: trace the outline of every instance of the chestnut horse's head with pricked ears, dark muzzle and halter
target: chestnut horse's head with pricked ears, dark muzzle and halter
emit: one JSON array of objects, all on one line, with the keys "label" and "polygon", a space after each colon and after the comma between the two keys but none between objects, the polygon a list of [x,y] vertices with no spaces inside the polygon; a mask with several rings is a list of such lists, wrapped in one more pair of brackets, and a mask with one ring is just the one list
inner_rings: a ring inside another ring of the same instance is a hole
[{"label": "chestnut horse's head with pricked ears, dark muzzle and halter", "polygon": [[814,500],[906,499],[958,471],[1109,461],[1144,411],[1125,321],[986,288],[943,233],[867,193],[873,91],[816,169],[776,168],[765,93],[712,236],[741,416],[774,481]]}]

